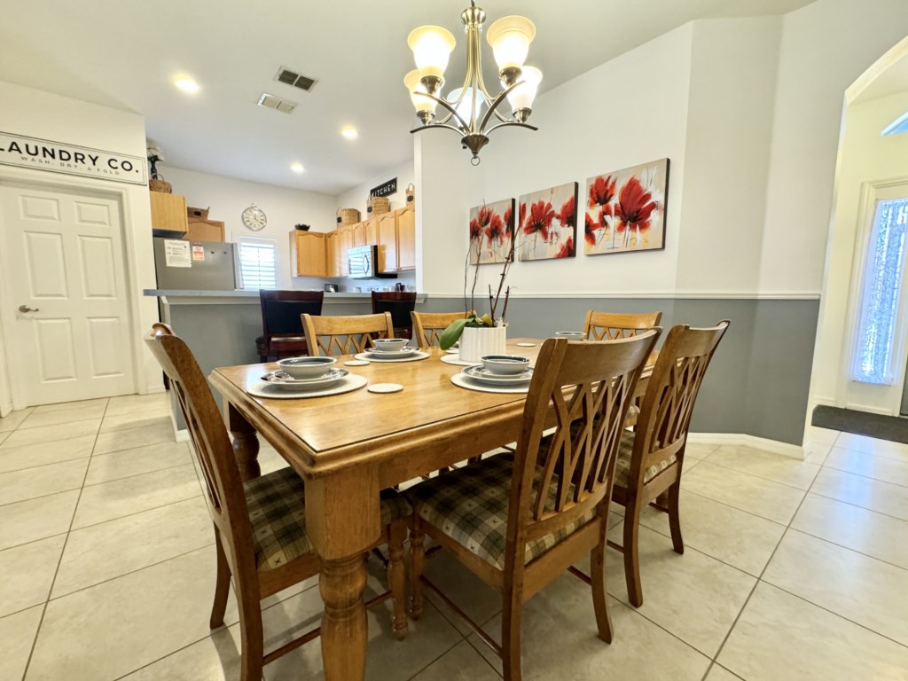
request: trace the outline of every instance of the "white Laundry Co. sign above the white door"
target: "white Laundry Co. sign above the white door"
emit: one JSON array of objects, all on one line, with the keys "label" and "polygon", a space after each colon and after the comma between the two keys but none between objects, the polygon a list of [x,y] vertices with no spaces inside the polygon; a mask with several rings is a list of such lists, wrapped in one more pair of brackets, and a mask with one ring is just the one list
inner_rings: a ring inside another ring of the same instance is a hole
[{"label": "white Laundry Co. sign above the white door", "polygon": [[147,161],[142,156],[104,152],[22,134],[0,133],[0,164],[51,173],[99,177],[118,183],[147,183]]}]

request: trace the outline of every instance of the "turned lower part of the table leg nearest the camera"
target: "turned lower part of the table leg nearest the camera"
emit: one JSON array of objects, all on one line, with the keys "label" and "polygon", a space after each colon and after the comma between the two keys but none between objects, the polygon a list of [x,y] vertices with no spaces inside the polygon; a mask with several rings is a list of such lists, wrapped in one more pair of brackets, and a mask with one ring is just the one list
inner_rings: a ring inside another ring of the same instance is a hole
[{"label": "turned lower part of the table leg nearest the camera", "polygon": [[362,592],[366,563],[362,554],[326,560],[319,591],[325,609],[321,616],[321,658],[325,681],[351,681],[366,674],[369,627]]}]

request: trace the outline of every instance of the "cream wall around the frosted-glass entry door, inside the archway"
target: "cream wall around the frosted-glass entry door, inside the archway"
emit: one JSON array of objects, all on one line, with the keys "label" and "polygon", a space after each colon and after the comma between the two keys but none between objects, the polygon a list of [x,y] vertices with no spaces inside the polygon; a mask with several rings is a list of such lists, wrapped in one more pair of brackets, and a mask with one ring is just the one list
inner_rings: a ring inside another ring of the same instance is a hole
[{"label": "cream wall around the frosted-glass entry door, inside the archway", "polygon": [[814,401],[844,406],[849,362],[849,319],[854,286],[861,263],[856,253],[862,245],[858,234],[866,233],[859,222],[864,183],[908,179],[908,133],[887,135],[880,131],[908,111],[908,92],[853,104],[848,107],[842,140],[842,161],[837,178],[834,224],[830,235],[830,276],[824,291],[821,326],[814,360]]}]

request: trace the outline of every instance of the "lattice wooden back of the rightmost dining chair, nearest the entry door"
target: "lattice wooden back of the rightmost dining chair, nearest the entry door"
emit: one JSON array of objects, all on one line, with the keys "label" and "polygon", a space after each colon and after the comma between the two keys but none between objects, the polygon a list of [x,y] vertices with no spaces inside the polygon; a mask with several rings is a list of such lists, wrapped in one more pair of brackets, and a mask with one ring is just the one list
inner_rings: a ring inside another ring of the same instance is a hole
[{"label": "lattice wooden back of the rightmost dining chair, nearest the entry door", "polygon": [[679,325],[668,331],[637,417],[629,489],[642,488],[646,469],[673,454],[677,461],[662,471],[666,476],[660,473],[649,482],[665,488],[666,480],[660,478],[670,477],[672,469],[681,469],[696,396],[729,323],[720,321],[708,329]]}]

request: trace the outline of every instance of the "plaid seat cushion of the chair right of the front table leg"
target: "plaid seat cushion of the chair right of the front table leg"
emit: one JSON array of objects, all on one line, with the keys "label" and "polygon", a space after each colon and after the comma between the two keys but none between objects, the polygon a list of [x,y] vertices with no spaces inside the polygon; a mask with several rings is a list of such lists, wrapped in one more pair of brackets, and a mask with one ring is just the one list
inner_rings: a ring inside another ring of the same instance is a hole
[{"label": "plaid seat cushion of the chair right of the front table leg", "polygon": [[[495,568],[503,570],[513,467],[512,454],[498,454],[421,482],[405,494],[419,518],[439,528],[460,546]],[[555,508],[555,494],[553,484],[549,489],[547,509]],[[568,527],[528,542],[524,564],[539,558],[595,517],[594,509]]]}]

